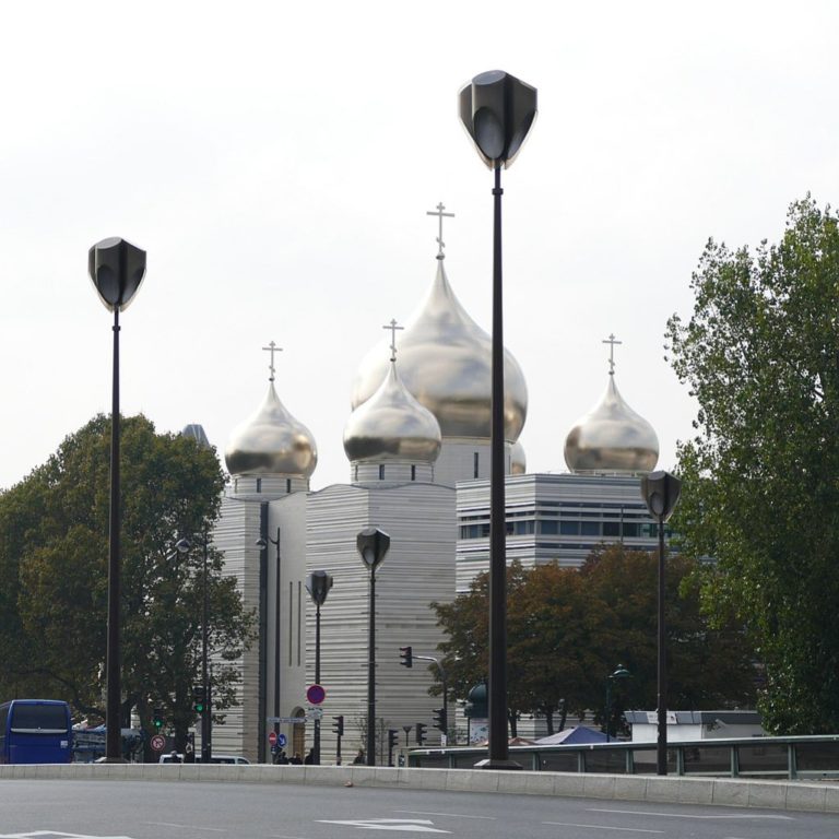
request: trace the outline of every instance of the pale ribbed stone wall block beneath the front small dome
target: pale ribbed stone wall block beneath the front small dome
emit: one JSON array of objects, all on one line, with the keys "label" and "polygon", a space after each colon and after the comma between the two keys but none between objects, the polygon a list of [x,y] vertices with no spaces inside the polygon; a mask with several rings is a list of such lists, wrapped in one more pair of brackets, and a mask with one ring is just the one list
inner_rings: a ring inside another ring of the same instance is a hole
[{"label": "pale ribbed stone wall block beneath the front small dome", "polygon": [[[411,645],[416,654],[437,654],[441,634],[428,603],[449,602],[453,596],[453,491],[433,484],[385,489],[333,486],[309,497],[307,522],[308,568],[334,577],[321,610],[321,683],[327,690],[322,763],[335,759],[334,716],[344,716],[344,763],[352,760],[365,740],[369,574],[356,550],[356,536],[365,527],[379,527],[391,537],[376,575],[377,719],[383,720],[385,729],[400,730],[400,744],[404,743],[402,726],[417,721],[437,735],[430,729],[432,708],[441,700],[427,694],[430,674],[422,662],[411,670],[400,666],[399,647]],[[308,683],[314,681],[314,667],[315,611],[309,606]],[[310,729],[307,725],[308,743]],[[387,733],[383,741],[387,751]]]}]

